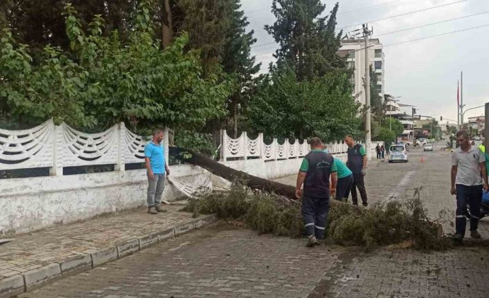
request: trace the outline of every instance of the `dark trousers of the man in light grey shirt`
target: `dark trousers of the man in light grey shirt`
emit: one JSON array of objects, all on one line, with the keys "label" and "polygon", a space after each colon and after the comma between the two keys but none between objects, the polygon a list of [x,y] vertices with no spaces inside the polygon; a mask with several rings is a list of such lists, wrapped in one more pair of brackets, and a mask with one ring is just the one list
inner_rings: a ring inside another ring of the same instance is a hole
[{"label": "dark trousers of the man in light grey shirt", "polygon": [[482,185],[466,186],[457,184],[456,186],[456,216],[455,230],[456,234],[465,236],[465,225],[467,219],[467,203],[470,205],[470,230],[475,231],[479,226],[479,216],[482,201]]}]

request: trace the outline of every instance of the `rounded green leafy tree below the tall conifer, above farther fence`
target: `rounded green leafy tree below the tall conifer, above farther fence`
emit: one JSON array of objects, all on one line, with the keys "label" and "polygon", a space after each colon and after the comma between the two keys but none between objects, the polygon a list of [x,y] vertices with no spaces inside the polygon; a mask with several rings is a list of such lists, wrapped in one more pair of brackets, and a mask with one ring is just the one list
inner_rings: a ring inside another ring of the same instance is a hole
[{"label": "rounded green leafy tree below the tall conifer, above farther fence", "polygon": [[278,138],[341,140],[360,118],[347,73],[332,71],[299,82],[291,68],[274,71],[251,102],[251,127]]}]

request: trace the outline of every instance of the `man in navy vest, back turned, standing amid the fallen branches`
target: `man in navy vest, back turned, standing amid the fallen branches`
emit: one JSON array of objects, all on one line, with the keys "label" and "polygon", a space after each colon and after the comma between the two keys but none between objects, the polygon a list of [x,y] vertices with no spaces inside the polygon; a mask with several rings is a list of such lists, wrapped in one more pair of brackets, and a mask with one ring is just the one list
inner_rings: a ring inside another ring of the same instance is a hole
[{"label": "man in navy vest, back turned, standing amid the fallen branches", "polygon": [[321,139],[311,138],[310,146],[311,151],[302,160],[296,184],[296,198],[302,198],[302,216],[308,235],[308,246],[319,244],[318,241],[323,239],[329,212],[328,200],[331,195],[335,195],[337,183],[334,159],[321,149]]}]

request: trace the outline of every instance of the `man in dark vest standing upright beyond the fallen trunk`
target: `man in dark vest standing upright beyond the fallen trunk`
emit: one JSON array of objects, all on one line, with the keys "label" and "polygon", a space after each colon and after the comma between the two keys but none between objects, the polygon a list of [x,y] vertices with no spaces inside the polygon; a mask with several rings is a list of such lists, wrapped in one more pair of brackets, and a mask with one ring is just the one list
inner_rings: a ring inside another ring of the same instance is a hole
[{"label": "man in dark vest standing upright beyond the fallen trunk", "polygon": [[345,137],[346,145],[348,145],[348,160],[346,165],[353,172],[353,187],[351,188],[351,200],[353,205],[358,205],[357,189],[362,197],[362,205],[367,206],[367,196],[364,183],[366,174],[366,151],[361,144],[356,144],[353,137],[348,135]]}]

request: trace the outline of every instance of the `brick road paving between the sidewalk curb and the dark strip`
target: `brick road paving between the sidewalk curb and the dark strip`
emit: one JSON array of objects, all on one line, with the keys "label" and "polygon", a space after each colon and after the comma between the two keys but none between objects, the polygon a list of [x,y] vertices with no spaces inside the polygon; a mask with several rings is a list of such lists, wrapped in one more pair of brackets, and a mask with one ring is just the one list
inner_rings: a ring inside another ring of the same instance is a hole
[{"label": "brick road paving between the sidewalk curb and the dark strip", "polygon": [[204,228],[19,297],[308,297],[342,249],[304,244]]}]

